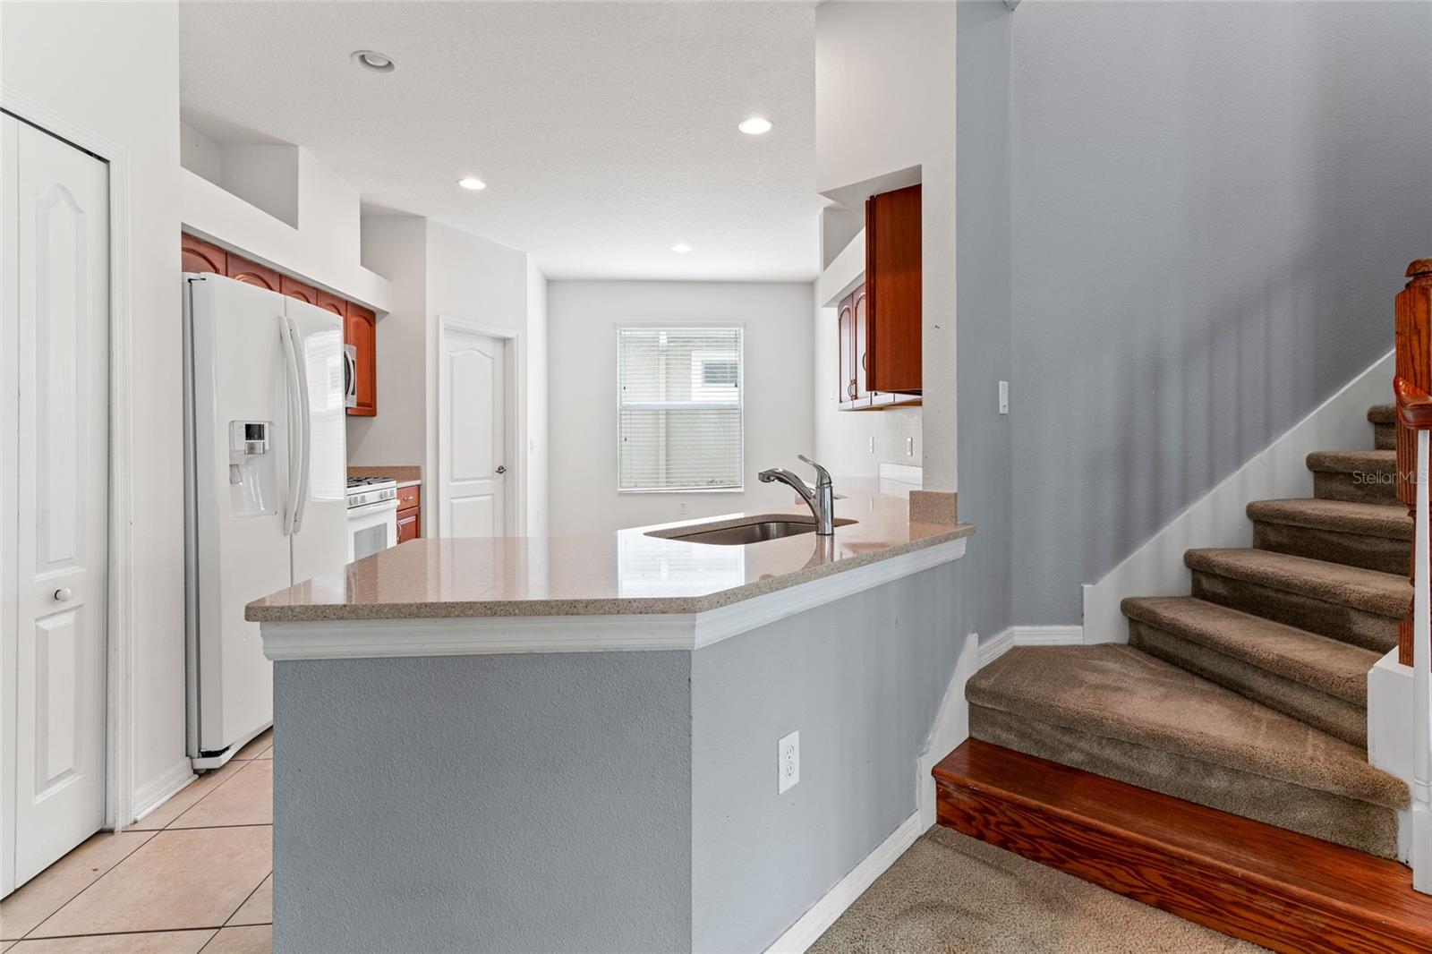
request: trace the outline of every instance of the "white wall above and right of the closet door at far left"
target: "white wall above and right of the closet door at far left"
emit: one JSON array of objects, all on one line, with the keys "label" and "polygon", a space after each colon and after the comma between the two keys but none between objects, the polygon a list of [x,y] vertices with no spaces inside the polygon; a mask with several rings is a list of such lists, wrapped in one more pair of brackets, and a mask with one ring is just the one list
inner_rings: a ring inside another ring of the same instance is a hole
[{"label": "white wall above and right of the closet door at far left", "polygon": [[[129,150],[136,801],[185,756],[183,423],[179,301],[179,19],[173,3],[0,6],[6,92]],[[116,50],[142,56],[116,67]]]}]

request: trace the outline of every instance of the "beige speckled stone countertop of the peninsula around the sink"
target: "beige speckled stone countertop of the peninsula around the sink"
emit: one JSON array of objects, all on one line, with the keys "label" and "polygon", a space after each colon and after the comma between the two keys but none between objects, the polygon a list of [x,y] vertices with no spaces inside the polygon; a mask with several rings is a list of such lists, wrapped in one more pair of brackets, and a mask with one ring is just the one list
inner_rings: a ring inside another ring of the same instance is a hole
[{"label": "beige speckled stone countertop of the peninsula around the sink", "polygon": [[835,504],[838,520],[855,523],[838,526],[831,537],[715,546],[652,536],[752,523],[768,513],[811,520],[802,504],[590,536],[410,540],[255,600],[245,617],[298,623],[702,613],[974,533],[971,524],[912,523],[902,494],[856,493]]}]

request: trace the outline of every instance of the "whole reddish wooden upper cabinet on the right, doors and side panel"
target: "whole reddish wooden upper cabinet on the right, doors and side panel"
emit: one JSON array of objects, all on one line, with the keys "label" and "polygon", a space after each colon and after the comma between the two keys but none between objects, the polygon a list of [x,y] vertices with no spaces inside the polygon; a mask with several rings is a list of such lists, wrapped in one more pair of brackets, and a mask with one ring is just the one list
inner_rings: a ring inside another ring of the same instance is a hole
[{"label": "whole reddish wooden upper cabinet on the right, doors and side panel", "polygon": [[921,189],[865,202],[865,284],[841,302],[842,411],[921,401]]}]

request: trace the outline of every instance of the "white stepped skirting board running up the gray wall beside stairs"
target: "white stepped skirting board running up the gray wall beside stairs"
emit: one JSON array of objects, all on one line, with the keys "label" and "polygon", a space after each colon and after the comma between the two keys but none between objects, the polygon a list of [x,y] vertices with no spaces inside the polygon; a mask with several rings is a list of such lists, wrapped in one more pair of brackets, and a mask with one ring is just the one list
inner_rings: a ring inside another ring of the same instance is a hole
[{"label": "white stepped skirting board running up the gray wall beside stairs", "polygon": [[1183,564],[1186,550],[1252,546],[1253,524],[1244,514],[1250,501],[1310,497],[1313,476],[1307,471],[1307,454],[1372,447],[1368,408],[1392,401],[1392,371],[1389,351],[1189,504],[1103,579],[1085,583],[1084,632],[1088,642],[1128,642],[1128,622],[1118,609],[1126,596],[1187,596],[1193,580]]}]

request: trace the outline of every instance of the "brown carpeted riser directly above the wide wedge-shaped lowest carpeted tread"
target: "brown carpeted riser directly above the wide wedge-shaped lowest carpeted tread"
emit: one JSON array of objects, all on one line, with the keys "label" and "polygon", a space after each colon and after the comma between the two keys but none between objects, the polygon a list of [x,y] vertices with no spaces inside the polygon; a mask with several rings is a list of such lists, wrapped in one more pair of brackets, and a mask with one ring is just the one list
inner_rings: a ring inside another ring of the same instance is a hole
[{"label": "brown carpeted riser directly above the wide wedge-shaped lowest carpeted tread", "polygon": [[1368,745],[1368,709],[1259,669],[1148,623],[1128,620],[1128,645],[1350,745]]}]

